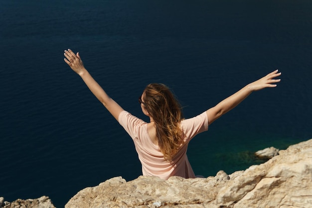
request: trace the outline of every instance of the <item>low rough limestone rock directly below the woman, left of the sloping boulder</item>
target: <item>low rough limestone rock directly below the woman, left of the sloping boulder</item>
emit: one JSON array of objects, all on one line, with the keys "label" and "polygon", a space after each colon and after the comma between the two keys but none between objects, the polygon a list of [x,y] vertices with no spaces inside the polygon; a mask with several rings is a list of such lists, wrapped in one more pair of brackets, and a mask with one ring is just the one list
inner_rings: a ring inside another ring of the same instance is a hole
[{"label": "low rough limestone rock directly below the woman, left of the sloping boulder", "polygon": [[229,180],[223,171],[206,179],[140,176],[126,182],[117,177],[80,191],[65,208],[216,208],[211,202]]}]

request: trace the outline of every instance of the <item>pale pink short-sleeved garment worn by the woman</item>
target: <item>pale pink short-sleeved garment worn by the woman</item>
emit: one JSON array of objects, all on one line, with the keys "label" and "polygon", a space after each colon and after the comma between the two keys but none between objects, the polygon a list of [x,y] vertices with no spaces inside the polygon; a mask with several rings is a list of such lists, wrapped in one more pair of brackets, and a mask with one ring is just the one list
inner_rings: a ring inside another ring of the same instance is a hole
[{"label": "pale pink short-sleeved garment worn by the woman", "polygon": [[134,141],[144,176],[158,176],[167,180],[170,176],[195,178],[186,156],[189,141],[198,133],[208,130],[207,113],[181,121],[184,144],[174,156],[172,162],[165,161],[163,154],[155,145],[148,133],[147,122],[131,115],[127,111],[119,114],[118,121]]}]

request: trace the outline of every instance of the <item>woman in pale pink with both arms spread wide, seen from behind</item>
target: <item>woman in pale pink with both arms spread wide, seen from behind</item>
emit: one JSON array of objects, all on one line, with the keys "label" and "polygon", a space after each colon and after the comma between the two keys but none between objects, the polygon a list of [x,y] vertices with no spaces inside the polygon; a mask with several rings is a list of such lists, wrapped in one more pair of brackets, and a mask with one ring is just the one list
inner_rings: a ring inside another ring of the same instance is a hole
[{"label": "woman in pale pink with both arms spread wide, seen from behind", "polygon": [[68,49],[64,55],[64,61],[81,76],[91,92],[132,137],[143,175],[165,180],[170,176],[195,178],[186,156],[189,141],[196,134],[207,131],[208,124],[233,109],[253,91],[276,87],[275,83],[281,81],[274,79],[281,75],[275,70],[190,119],[182,118],[181,107],[168,87],[149,84],[139,98],[143,113],[150,117],[150,123],[146,123],[125,111],[106,94],[84,67],[79,53]]}]

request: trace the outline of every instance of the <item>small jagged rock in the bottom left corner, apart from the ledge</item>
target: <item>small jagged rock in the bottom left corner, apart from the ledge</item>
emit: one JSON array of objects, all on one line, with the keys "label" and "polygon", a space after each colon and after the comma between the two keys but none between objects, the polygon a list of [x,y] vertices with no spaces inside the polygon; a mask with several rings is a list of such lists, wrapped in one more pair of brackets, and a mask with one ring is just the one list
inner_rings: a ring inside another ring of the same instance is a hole
[{"label": "small jagged rock in the bottom left corner, apart from the ledge", "polygon": [[[4,203],[3,208],[55,208],[48,197],[40,197],[38,199],[15,200],[11,203]],[[0,206],[1,207],[1,206]]]}]

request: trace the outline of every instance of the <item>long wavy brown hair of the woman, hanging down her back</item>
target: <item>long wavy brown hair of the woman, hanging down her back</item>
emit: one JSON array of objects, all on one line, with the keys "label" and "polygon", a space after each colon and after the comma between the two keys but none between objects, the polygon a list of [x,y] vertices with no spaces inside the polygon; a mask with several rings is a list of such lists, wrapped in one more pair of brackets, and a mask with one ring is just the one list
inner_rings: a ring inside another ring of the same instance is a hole
[{"label": "long wavy brown hair of the woman, hanging down her back", "polygon": [[183,117],[181,106],[164,84],[149,84],[143,94],[145,108],[156,124],[159,149],[165,160],[172,161],[183,143],[180,129]]}]

